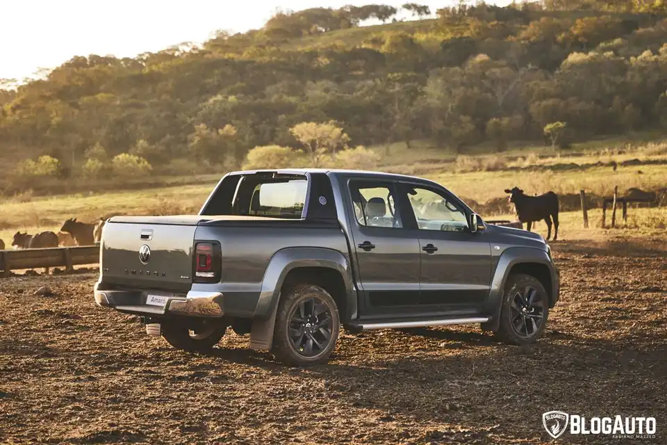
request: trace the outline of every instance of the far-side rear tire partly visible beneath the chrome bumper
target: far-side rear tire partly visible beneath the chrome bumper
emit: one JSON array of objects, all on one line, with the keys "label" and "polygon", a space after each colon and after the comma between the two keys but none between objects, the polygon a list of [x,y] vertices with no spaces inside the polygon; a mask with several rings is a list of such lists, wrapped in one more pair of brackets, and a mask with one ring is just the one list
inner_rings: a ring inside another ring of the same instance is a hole
[{"label": "far-side rear tire partly visible beneath the chrome bumper", "polygon": [[167,343],[176,349],[189,352],[206,352],[220,342],[224,337],[226,326],[204,321],[192,327],[187,323],[170,321],[162,323],[160,330]]}]

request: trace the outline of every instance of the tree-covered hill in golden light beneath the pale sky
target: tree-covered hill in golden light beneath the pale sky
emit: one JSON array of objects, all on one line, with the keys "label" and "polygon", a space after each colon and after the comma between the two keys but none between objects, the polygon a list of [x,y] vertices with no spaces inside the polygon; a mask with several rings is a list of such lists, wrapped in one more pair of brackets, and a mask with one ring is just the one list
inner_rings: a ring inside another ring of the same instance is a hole
[{"label": "tree-covered hill in golden light beneath the pale sky", "polygon": [[[544,3],[378,26],[359,23],[390,21],[381,5],[313,8],[200,48],[72,58],[0,90],[0,187],[103,177],[126,152],[182,172],[201,140],[213,149],[200,165],[238,167],[252,147],[295,146],[289,129],[304,121],[334,120],[352,145],[428,140],[459,153],[667,129],[664,4]],[[42,155],[56,164],[23,162]]]}]

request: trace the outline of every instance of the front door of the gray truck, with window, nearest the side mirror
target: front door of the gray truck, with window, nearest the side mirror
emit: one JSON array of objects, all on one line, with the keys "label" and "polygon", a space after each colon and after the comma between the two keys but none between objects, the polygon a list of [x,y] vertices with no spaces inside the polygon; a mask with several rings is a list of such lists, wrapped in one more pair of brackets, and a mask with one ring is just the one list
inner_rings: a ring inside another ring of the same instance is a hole
[{"label": "front door of the gray truck, with window, nearest the side mirror", "polygon": [[486,234],[470,232],[466,211],[447,191],[404,187],[418,228],[420,305],[460,314],[479,311],[491,289]]}]

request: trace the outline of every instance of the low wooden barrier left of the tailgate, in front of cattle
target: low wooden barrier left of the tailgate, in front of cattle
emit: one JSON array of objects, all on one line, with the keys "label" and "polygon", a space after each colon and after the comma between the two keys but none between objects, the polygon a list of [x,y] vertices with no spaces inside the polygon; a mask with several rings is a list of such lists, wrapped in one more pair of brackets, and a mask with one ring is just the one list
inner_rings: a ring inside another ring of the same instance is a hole
[{"label": "low wooden barrier left of the tailgate, in front of cattle", "polygon": [[99,263],[99,245],[72,248],[0,250],[0,276],[7,277],[12,270],[65,267]]}]

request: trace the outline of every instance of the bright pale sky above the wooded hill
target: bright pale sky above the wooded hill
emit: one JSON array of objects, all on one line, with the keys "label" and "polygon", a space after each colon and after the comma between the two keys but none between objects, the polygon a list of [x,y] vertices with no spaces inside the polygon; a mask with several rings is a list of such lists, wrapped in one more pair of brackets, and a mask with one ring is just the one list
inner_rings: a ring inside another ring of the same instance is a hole
[{"label": "bright pale sky above the wooded hill", "polygon": [[[5,3],[5,4],[1,4]],[[74,56],[133,57],[181,42],[201,43],[218,30],[258,29],[281,10],[340,8],[383,0],[0,0],[0,79],[22,81]],[[456,0],[417,1],[431,11]],[[474,3],[474,2],[471,2]],[[505,6],[511,0],[491,0]]]}]

